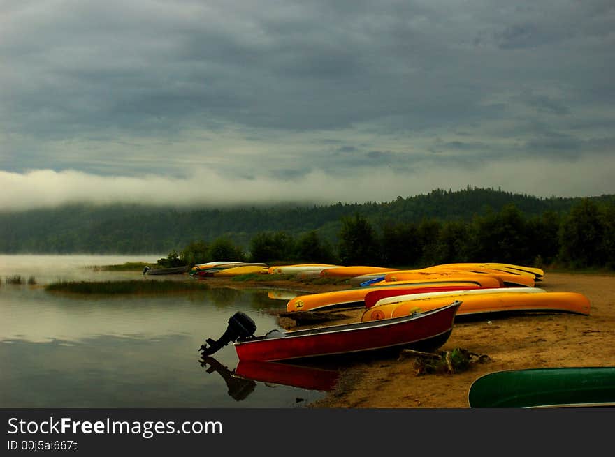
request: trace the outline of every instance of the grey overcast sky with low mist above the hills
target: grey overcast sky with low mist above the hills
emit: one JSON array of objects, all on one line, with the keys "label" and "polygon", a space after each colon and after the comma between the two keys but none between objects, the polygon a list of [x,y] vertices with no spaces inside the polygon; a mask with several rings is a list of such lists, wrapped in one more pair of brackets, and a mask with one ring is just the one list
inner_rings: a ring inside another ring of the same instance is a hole
[{"label": "grey overcast sky with low mist above the hills", "polygon": [[612,0],[0,0],[0,208],[615,193]]}]

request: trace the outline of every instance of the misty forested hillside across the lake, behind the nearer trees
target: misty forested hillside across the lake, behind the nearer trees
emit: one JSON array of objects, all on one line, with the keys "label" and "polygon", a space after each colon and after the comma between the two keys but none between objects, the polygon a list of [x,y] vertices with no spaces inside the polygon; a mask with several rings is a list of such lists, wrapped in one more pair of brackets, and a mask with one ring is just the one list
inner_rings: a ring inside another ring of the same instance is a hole
[{"label": "misty forested hillside across the lake, behind the nearer trees", "polygon": [[[501,190],[433,190],[390,202],[307,206],[173,208],[113,204],[0,212],[1,253],[168,253],[194,241],[226,237],[249,248],[256,234],[317,232],[338,244],[342,218],[360,214],[382,234],[424,220],[468,222],[513,204],[526,217],[562,215],[580,198],[539,198]],[[615,195],[590,199],[615,204]]]}]

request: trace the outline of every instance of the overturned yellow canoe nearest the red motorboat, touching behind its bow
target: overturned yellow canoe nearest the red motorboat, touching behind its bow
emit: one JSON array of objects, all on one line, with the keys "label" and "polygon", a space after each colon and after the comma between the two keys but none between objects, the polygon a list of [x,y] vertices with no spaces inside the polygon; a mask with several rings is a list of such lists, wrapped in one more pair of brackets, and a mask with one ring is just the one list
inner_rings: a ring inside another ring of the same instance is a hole
[{"label": "overturned yellow canoe nearest the red motorboat, touching behind its bow", "polygon": [[590,301],[578,292],[544,292],[538,294],[468,294],[458,297],[431,297],[407,300],[381,306],[373,306],[363,313],[361,321],[389,319],[412,313],[414,310],[428,311],[461,300],[457,315],[474,315],[500,312],[559,312],[588,315]]}]

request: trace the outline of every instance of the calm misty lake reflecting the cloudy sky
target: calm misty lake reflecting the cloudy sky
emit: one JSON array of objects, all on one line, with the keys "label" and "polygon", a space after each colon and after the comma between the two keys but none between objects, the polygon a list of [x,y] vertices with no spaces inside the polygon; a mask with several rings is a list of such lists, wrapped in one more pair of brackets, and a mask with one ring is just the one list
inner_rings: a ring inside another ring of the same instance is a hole
[{"label": "calm misty lake reflecting the cloudy sky", "polygon": [[[324,396],[328,371],[239,370],[232,345],[200,362],[205,338],[219,338],[236,311],[252,317],[256,334],[279,329],[267,311],[285,309],[283,291],[92,297],[44,289],[57,280],[156,280],[91,267],[160,257],[0,255],[0,407],[303,407]],[[8,283],[15,275],[22,284]],[[289,385],[298,374],[306,383]]]}]

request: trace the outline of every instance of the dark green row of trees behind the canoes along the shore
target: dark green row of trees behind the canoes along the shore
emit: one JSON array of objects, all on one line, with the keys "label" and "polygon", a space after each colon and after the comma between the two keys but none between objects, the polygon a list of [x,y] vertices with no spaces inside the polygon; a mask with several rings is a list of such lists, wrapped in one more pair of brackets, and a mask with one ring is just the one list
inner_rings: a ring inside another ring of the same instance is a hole
[{"label": "dark green row of trees behind the canoes along the shore", "polygon": [[191,241],[161,264],[238,262],[319,262],[386,267],[426,267],[454,262],[506,262],[574,269],[615,268],[615,204],[577,201],[570,211],[528,216],[516,204],[487,210],[470,220],[423,218],[419,222],[375,225],[359,211],[340,219],[333,244],[310,230],[295,236],[284,230],[255,234],[249,248],[226,236]]}]

